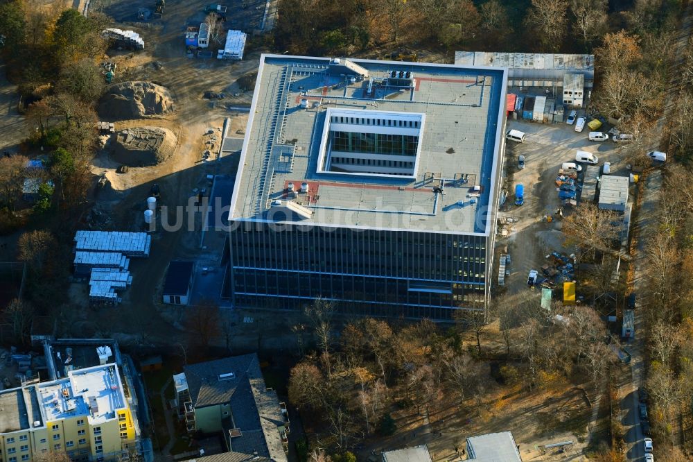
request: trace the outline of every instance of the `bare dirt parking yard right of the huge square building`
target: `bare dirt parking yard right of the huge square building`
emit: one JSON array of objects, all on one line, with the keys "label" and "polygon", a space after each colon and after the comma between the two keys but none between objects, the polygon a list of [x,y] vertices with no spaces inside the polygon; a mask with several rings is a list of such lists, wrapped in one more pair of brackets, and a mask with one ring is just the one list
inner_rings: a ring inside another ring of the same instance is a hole
[{"label": "bare dirt parking yard right of the huge square building", "polygon": [[[512,179],[507,178],[505,188],[509,191],[500,215],[518,219],[514,232],[498,240],[498,247],[508,247],[511,254],[511,274],[506,277],[505,287],[510,293],[526,290],[527,274],[540,270],[545,264],[545,255],[552,250],[572,253],[574,249],[563,248],[561,221],[547,223],[545,216],[552,216],[561,202],[554,180],[563,162],[574,162],[577,150],[588,151],[599,157],[599,165],[611,162],[611,174],[627,176],[622,162],[621,146],[614,142],[590,142],[589,128],[576,132],[574,126],[565,123],[531,123],[509,120],[508,129],[527,134],[525,142],[507,142],[506,159],[511,162]],[[517,170],[519,155],[525,156],[525,169]],[[525,187],[525,203],[514,205],[514,187],[522,183]]]}]

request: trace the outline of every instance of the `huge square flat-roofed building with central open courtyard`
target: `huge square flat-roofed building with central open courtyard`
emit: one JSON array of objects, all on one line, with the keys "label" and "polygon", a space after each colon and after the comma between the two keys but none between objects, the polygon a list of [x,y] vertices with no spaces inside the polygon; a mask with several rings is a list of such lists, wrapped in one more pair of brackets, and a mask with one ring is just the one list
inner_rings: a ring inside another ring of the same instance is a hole
[{"label": "huge square flat-roofed building with central open courtyard", "polygon": [[234,305],[484,309],[506,86],[494,67],[263,55],[229,213]]}]

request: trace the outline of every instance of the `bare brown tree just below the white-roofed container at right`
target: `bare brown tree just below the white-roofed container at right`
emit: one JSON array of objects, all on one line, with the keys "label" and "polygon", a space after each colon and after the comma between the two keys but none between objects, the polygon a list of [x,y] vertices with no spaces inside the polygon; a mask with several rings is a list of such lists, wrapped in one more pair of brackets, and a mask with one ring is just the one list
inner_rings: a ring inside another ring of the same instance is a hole
[{"label": "bare brown tree just below the white-roofed container at right", "polygon": [[598,209],[582,203],[563,219],[563,232],[568,241],[576,243],[583,253],[594,255],[596,250],[613,253],[613,243],[620,235],[616,212]]}]

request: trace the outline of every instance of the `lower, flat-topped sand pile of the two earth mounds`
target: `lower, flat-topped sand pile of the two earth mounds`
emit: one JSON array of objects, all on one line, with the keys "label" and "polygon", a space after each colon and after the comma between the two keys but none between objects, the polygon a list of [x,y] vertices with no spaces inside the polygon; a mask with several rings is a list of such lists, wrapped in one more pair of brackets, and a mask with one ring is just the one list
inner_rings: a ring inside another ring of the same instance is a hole
[{"label": "lower, flat-topped sand pile of the two earth mounds", "polygon": [[157,165],[173,157],[176,143],[175,135],[167,128],[128,128],[113,135],[111,157],[128,166]]}]

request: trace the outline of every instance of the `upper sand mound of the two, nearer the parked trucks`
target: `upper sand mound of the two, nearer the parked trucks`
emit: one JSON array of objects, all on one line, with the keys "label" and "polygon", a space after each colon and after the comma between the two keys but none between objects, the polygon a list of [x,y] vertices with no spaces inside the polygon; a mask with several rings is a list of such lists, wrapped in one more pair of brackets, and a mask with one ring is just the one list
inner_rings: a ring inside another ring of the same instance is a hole
[{"label": "upper sand mound of the two, nearer the parked trucks", "polygon": [[175,110],[166,87],[150,82],[123,82],[109,88],[99,104],[99,113],[108,119],[141,119]]}]

